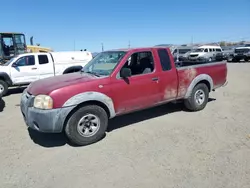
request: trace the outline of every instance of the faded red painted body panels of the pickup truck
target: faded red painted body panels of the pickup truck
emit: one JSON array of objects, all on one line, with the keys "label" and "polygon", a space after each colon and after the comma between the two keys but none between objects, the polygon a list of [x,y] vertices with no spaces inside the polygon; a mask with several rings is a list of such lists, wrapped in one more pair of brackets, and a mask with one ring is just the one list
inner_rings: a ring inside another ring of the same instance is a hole
[{"label": "faded red painted body panels of the pickup truck", "polygon": [[[215,86],[226,82],[227,69],[225,64],[200,66],[198,68],[185,68],[177,70],[174,59],[167,48],[171,59],[172,69],[162,71],[157,49],[135,48],[126,49],[126,55],[116,66],[109,77],[96,78],[86,74],[66,74],[54,78],[43,79],[31,84],[28,92],[38,95],[47,94],[54,100],[54,108],[61,108],[71,97],[88,92],[101,92],[113,100],[116,114],[127,113],[138,109],[147,108],[158,103],[182,98],[195,77],[208,74]],[[124,79],[117,79],[117,73],[125,64],[131,54],[140,51],[151,51],[154,57],[155,71],[150,74],[138,75]],[[158,81],[152,81],[157,77]],[[103,87],[99,87],[103,85]]]}]

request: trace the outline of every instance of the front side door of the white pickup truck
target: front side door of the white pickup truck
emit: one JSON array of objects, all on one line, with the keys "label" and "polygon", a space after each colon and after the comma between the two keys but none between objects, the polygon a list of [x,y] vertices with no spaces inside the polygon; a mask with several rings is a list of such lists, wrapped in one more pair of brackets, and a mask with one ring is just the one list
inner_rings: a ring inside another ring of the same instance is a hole
[{"label": "front side door of the white pickup truck", "polygon": [[39,79],[34,55],[20,57],[11,67],[13,84],[28,84]]}]

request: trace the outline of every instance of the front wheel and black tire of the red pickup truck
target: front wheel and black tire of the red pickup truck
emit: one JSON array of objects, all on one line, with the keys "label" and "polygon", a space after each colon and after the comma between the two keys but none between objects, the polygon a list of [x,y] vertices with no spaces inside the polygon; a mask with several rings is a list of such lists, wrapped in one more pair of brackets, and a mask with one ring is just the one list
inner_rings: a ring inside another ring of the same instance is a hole
[{"label": "front wheel and black tire of the red pickup truck", "polygon": [[[88,118],[93,119],[92,123],[95,126],[90,125],[91,121],[88,121]],[[87,123],[80,123],[83,122],[83,119]],[[73,144],[85,146],[101,140],[105,136],[107,127],[108,115],[106,111],[100,106],[88,105],[79,108],[70,116],[65,127],[65,134]]]}]

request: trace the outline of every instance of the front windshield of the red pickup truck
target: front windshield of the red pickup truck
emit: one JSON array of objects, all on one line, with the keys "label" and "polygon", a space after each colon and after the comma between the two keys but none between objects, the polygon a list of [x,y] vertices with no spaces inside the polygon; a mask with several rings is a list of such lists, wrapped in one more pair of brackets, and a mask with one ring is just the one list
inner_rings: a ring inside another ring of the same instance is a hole
[{"label": "front windshield of the red pickup truck", "polygon": [[125,51],[107,51],[97,54],[82,69],[82,72],[95,76],[108,76],[126,54]]}]

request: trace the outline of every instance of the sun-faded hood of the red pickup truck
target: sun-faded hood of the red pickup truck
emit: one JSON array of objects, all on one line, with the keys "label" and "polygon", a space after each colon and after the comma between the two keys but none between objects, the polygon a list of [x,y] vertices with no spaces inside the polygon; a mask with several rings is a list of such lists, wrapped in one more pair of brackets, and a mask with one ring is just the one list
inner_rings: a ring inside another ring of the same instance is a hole
[{"label": "sun-faded hood of the red pickup truck", "polygon": [[48,95],[50,92],[56,89],[79,84],[79,82],[88,82],[96,79],[98,78],[94,75],[86,73],[77,72],[64,74],[35,81],[28,86],[27,91],[32,95]]}]

